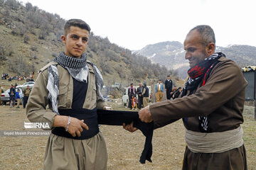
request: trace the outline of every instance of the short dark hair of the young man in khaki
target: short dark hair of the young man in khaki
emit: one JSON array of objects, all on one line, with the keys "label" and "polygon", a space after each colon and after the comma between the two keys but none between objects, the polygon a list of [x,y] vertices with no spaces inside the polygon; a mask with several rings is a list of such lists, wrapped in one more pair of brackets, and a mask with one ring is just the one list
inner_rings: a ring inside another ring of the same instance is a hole
[{"label": "short dark hair of the young man in khaki", "polygon": [[68,34],[71,26],[75,26],[81,29],[85,29],[90,33],[90,26],[80,19],[70,19],[64,25],[64,35]]}]

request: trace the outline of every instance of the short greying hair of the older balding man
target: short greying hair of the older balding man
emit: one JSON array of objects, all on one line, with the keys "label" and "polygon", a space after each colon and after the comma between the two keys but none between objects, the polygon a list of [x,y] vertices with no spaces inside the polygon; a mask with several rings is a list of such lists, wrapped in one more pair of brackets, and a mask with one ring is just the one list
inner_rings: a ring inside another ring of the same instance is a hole
[{"label": "short greying hair of the older balding man", "polygon": [[203,40],[203,45],[208,45],[210,42],[213,42],[215,44],[215,34],[213,31],[213,28],[210,28],[210,26],[207,25],[201,25],[201,26],[196,26],[192,28],[189,33],[192,30],[197,30],[198,33],[201,35],[202,40]]}]

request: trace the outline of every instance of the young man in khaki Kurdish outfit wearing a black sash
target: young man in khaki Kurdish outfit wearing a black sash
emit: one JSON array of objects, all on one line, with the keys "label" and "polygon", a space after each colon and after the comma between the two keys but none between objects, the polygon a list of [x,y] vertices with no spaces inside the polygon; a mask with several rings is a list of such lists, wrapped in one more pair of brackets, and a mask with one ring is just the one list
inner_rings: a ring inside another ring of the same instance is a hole
[{"label": "young man in khaki Kurdish outfit wearing a black sash", "polygon": [[[44,169],[107,169],[107,149],[96,108],[107,109],[100,93],[99,69],[87,61],[90,26],[79,19],[65,23],[65,52],[38,74],[26,107],[31,122],[48,123]],[[49,105],[50,110],[46,110]]]}]

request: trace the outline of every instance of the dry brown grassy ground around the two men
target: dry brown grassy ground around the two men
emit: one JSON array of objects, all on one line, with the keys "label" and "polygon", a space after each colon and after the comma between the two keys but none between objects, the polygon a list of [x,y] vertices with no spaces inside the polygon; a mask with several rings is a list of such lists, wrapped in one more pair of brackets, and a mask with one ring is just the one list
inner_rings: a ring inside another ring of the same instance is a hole
[{"label": "dry brown grassy ground around the two men", "polygon": [[[110,105],[116,110],[128,110],[119,101]],[[254,108],[245,106],[244,140],[249,169],[256,169],[256,125]],[[0,106],[0,130],[25,130],[28,122],[25,109]],[[107,169],[181,169],[185,149],[181,120],[154,131],[152,163],[139,163],[144,136],[139,130],[127,132],[122,127],[101,125],[107,143]],[[0,169],[43,169],[43,157],[48,137],[0,137]]]}]

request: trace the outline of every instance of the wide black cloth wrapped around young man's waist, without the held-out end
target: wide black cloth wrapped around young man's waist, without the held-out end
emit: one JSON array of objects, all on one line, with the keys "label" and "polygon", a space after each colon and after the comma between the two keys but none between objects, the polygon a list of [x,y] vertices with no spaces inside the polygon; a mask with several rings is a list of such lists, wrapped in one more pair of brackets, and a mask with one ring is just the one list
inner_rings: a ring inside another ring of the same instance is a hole
[{"label": "wide black cloth wrapped around young man's waist, without the held-out end", "polygon": [[70,115],[70,117],[78,118],[79,120],[84,120],[84,123],[88,126],[89,130],[85,130],[85,128],[82,128],[83,130],[81,132],[81,136],[78,137],[78,135],[76,135],[75,137],[73,137],[69,132],[65,131],[65,128],[56,127],[51,131],[54,135],[68,137],[75,140],[86,140],[91,137],[94,137],[99,132],[96,108],[92,110],[86,108],[60,109],[58,111],[60,115]]}]

